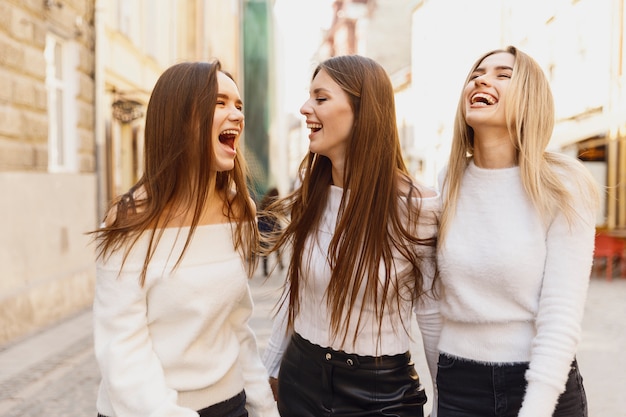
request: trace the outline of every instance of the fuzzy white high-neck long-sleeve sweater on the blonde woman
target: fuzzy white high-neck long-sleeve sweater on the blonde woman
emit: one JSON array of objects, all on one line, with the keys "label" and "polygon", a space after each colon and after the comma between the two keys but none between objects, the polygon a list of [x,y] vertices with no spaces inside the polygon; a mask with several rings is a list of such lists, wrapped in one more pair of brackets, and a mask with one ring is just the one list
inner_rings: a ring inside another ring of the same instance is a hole
[{"label": "fuzzy white high-neck long-sleeve sweater on the blonde woman", "polygon": [[583,190],[569,188],[577,210],[571,227],[562,213],[544,225],[519,167],[472,161],[438,252],[439,349],[478,362],[529,362],[519,417],[552,416],[580,339],[595,213]]}]

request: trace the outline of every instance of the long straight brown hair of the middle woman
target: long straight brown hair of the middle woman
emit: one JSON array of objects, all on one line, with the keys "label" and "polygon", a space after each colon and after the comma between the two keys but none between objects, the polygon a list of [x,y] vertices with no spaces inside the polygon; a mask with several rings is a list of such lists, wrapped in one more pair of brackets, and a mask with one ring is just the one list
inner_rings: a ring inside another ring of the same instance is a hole
[{"label": "long straight brown hair of the middle woman", "polygon": [[[333,336],[348,337],[351,320],[357,320],[354,342],[363,311],[353,312],[359,290],[364,286],[363,306],[373,307],[380,328],[385,309],[405,300],[400,292],[408,285],[422,289],[421,255],[416,245],[434,245],[434,239],[416,235],[420,191],[414,186],[402,159],[396,126],[394,92],[385,70],[374,60],[358,56],[330,58],[315,69],[313,79],[324,70],[347,93],[354,112],[348,140],[344,191],[337,227],[330,243],[330,284],[326,290]],[[290,217],[272,250],[292,245],[287,272],[288,323],[293,326],[299,310],[299,290],[306,279],[302,259],[307,238],[316,232],[332,184],[331,161],[309,153],[300,166],[301,186],[268,209]],[[403,189],[408,190],[405,193]],[[404,195],[408,206],[400,204]],[[416,203],[417,201],[417,203]],[[411,282],[393,276],[393,251],[406,258]],[[384,279],[379,268],[384,266]],[[379,290],[382,290],[379,292]],[[398,311],[398,309],[396,309]],[[353,317],[356,314],[356,317]],[[407,330],[407,323],[403,323]]]}]

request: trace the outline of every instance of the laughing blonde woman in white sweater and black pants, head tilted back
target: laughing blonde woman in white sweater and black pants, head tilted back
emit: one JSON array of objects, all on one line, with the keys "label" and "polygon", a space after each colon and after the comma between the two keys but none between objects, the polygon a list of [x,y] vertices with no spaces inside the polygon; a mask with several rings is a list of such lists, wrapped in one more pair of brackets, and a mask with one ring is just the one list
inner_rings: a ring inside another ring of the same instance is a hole
[{"label": "laughing blonde woman in white sweater and black pants, head tilted back", "polygon": [[463,88],[442,173],[439,417],[583,417],[575,359],[598,192],[583,165],[546,151],[548,81],[508,47]]}]

